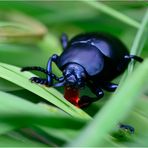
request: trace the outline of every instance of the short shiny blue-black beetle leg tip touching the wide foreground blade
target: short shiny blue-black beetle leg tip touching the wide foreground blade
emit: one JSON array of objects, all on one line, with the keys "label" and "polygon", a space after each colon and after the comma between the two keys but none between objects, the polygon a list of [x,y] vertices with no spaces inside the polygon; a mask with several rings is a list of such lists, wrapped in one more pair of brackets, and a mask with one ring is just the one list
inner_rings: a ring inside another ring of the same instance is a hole
[{"label": "short shiny blue-black beetle leg tip touching the wide foreground blade", "polygon": [[110,82],[102,82],[101,88],[104,90],[107,90],[109,92],[114,92],[116,88],[118,87],[118,84],[110,83]]}]

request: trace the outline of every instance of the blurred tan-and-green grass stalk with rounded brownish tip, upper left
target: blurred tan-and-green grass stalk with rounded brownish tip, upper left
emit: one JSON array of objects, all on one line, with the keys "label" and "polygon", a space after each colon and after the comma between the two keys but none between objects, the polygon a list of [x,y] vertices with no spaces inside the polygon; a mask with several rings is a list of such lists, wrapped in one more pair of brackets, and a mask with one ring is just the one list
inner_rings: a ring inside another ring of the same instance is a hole
[{"label": "blurred tan-and-green grass stalk with rounded brownish tip, upper left", "polygon": [[33,43],[47,34],[39,21],[16,11],[0,11],[0,43]]}]

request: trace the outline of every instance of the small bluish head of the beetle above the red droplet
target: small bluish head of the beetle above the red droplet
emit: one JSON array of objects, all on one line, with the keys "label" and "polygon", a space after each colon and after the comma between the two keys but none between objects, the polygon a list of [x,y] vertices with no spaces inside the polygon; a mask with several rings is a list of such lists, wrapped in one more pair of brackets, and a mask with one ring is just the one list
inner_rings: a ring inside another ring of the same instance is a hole
[{"label": "small bluish head of the beetle above the red droplet", "polygon": [[75,88],[85,86],[86,72],[84,68],[76,63],[68,64],[63,71],[65,85]]}]

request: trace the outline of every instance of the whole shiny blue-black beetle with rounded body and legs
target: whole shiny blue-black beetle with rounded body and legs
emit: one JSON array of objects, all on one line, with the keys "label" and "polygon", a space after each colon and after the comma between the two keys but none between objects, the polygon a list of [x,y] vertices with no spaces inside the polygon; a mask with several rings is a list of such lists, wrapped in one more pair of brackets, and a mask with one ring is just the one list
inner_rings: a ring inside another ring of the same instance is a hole
[{"label": "whole shiny blue-black beetle with rounded body and legs", "polygon": [[[130,55],[126,46],[109,34],[80,34],[70,41],[67,35],[63,34],[61,43],[64,51],[60,56],[54,54],[50,57],[46,70],[41,67],[24,67],[21,71],[44,72],[47,74],[47,79],[32,77],[31,81],[47,86],[66,86],[68,89],[78,90],[87,85],[97,97],[82,96],[79,100],[69,99],[79,107],[87,106],[102,98],[104,95],[102,89],[115,91],[118,85],[110,81],[125,71],[131,59],[142,62],[142,58]],[[63,72],[62,77],[58,78],[52,73],[52,62]],[[58,83],[53,84],[53,79]]]}]

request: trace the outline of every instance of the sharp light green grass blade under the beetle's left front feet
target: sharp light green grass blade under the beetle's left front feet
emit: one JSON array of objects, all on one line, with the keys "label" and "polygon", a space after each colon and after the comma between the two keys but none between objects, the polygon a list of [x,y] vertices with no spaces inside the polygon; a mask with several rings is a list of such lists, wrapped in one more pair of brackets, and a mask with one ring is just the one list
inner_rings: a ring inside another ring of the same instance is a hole
[{"label": "sharp light green grass blade under the beetle's left front feet", "polygon": [[46,88],[40,85],[32,84],[28,80],[30,77],[34,76],[29,72],[20,72],[20,68],[11,66],[8,64],[0,63],[0,77],[6,79],[12,83],[21,86],[36,95],[42,97],[43,99],[51,102],[60,109],[64,110],[71,116],[79,118],[90,118],[88,114],[78,109],[70,102],[63,98],[63,95],[56,91],[54,88]]}]

